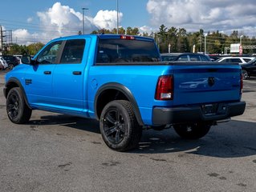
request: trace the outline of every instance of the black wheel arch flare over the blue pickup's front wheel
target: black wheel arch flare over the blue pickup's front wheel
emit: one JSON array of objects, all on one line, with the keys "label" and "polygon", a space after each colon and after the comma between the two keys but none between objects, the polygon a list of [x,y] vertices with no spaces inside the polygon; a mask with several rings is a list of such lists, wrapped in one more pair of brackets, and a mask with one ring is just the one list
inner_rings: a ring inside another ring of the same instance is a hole
[{"label": "black wheel arch flare over the blue pickup's front wheel", "polygon": [[8,93],[9,93],[9,91],[10,91],[12,88],[14,88],[14,87],[19,87],[19,88],[21,89],[22,95],[23,95],[24,100],[25,100],[25,102],[26,102],[26,105],[27,105],[30,109],[32,109],[32,108],[30,107],[28,101],[27,101],[26,92],[25,92],[25,90],[24,90],[24,88],[23,88],[23,86],[22,86],[22,83],[19,82],[18,78],[10,78],[10,79],[8,80],[8,82],[6,82],[6,85],[5,85],[5,88],[4,88],[4,96],[5,96],[5,98],[7,98],[7,95],[8,95]]}]

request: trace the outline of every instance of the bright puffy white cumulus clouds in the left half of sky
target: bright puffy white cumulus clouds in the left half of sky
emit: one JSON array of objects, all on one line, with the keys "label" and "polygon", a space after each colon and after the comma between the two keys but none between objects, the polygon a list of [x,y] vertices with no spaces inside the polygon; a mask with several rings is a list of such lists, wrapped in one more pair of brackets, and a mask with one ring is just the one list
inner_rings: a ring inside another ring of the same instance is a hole
[{"label": "bright puffy white cumulus clouds in the left half of sky", "polygon": [[[83,14],[76,12],[70,6],[63,6],[60,2],[46,11],[37,12],[39,18],[39,32],[30,33],[28,30],[19,29],[14,31],[14,39],[18,39],[19,44],[30,42],[48,42],[53,38],[78,34],[83,31]],[[120,21],[123,17],[119,13]],[[28,18],[27,22],[32,22],[33,18]],[[100,28],[113,29],[116,27],[116,10],[100,10],[94,18],[84,15],[85,33]],[[27,40],[27,41],[26,41]]]}]

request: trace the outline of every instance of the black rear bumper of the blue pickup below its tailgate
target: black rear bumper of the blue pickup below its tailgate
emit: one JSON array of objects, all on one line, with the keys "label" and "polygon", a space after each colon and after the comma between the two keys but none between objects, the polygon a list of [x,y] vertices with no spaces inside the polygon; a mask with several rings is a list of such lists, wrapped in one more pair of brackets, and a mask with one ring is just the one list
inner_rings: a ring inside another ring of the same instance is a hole
[{"label": "black rear bumper of the blue pickup below its tailgate", "polygon": [[213,114],[205,114],[202,106],[155,107],[152,122],[154,125],[168,125],[181,122],[217,121],[243,114],[246,102],[230,102],[217,104]]}]

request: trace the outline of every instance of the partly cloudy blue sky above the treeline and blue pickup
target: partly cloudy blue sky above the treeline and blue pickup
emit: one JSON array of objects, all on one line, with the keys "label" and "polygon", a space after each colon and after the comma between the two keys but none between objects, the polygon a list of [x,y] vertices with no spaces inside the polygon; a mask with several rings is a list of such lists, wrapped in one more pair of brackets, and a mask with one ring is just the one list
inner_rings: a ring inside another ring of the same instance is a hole
[{"label": "partly cloudy blue sky above the treeline and blue pickup", "polygon": [[170,28],[200,29],[256,36],[254,0],[0,0],[0,26],[12,30],[13,42],[46,43],[53,38],[116,27],[138,27],[140,32],[156,32],[164,24]]}]

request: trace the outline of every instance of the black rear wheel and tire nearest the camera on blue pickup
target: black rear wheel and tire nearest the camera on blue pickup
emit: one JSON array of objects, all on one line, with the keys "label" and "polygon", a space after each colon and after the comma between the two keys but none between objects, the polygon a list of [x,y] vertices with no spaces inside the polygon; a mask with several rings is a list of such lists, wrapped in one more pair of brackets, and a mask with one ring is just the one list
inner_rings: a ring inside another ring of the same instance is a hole
[{"label": "black rear wheel and tire nearest the camera on blue pickup", "polygon": [[127,151],[136,148],[142,128],[136,120],[131,102],[109,102],[100,115],[100,133],[112,150]]}]

